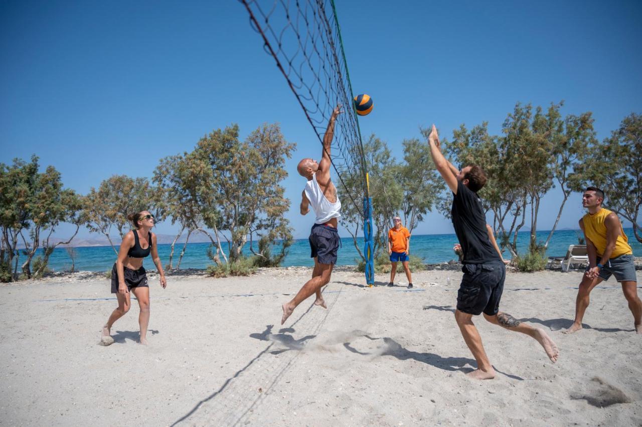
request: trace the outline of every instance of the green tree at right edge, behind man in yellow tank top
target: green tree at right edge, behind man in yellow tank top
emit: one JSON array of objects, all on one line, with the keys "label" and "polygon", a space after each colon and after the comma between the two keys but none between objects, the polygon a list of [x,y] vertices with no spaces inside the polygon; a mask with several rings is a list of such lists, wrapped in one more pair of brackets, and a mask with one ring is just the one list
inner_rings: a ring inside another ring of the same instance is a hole
[{"label": "green tree at right edge, behind man in yellow tank top", "polygon": [[633,233],[642,242],[642,115],[631,113],[620,127],[612,131],[602,144],[591,147],[591,156],[584,165],[584,179],[575,186],[582,191],[596,185],[605,193],[604,206],[630,221]]}]

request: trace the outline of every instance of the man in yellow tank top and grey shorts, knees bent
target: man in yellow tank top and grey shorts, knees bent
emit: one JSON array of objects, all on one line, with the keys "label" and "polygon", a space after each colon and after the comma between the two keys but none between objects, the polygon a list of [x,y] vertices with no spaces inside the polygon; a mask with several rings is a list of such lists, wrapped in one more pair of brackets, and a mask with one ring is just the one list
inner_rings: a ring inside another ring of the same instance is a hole
[{"label": "man in yellow tank top and grey shorts, knees bent", "polygon": [[564,333],[582,329],[582,318],[589,306],[589,294],[598,283],[611,275],[622,284],[622,290],[633,314],[634,326],[642,334],[642,301],[638,297],[636,269],[629,239],[622,229],[618,215],[602,207],[604,193],[588,187],[582,196],[582,206],[589,211],[580,219],[584,231],[589,266],[582,278],[575,302],[575,321]]}]

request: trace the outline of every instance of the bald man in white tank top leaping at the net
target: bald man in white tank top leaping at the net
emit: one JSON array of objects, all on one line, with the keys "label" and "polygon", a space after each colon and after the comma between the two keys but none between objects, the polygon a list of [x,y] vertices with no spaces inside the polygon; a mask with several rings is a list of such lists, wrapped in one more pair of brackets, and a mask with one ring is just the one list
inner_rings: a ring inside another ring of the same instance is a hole
[{"label": "bald man in white tank top leaping at the net", "polygon": [[330,180],[330,146],[334,137],[334,121],[341,113],[340,108],[340,105],[334,108],[327,124],[321,161],[304,158],[297,166],[299,174],[308,181],[301,195],[301,215],[306,215],[311,205],[317,216],[309,237],[310,256],[315,260],[315,268],[312,271],[312,278],[303,285],[299,293],[282,306],[281,324],[284,324],[294,309],[312,294],[317,294],[315,305],[327,308],[321,295],[321,288],[330,281],[340,244],[337,225],[341,217],[341,202],[336,194],[336,187]]}]

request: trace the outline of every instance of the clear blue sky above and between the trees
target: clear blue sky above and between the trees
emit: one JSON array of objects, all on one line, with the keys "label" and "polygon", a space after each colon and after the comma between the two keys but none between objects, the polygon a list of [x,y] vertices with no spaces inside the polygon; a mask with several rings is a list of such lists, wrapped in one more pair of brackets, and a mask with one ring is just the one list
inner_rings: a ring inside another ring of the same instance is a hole
[{"label": "clear blue sky above and between the trees", "polygon": [[[336,4],[353,88],[374,99],[363,136],[398,157],[432,122],[445,137],[482,121],[499,133],[517,101],[591,111],[600,139],[642,113],[639,1]],[[238,123],[245,137],[279,122],[297,143],[288,218],[295,237],[308,235],[295,165],[319,156],[318,140],[241,3],[0,1],[0,63],[0,162],[36,153],[85,194],[112,174],[152,176],[213,129]],[[544,199],[542,230],[560,199],[558,189]],[[559,227],[580,215],[576,194]],[[435,212],[415,233],[451,230]]]}]

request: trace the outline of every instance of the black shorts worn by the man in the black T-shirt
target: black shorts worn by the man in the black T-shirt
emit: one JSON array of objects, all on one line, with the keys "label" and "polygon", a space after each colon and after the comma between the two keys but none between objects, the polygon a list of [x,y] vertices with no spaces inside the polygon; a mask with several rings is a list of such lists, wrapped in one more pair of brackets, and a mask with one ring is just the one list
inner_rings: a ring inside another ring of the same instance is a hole
[{"label": "black shorts worn by the man in the black T-shirt", "polygon": [[504,290],[506,266],[501,261],[464,264],[464,277],[457,292],[457,310],[467,314],[496,315]]}]

